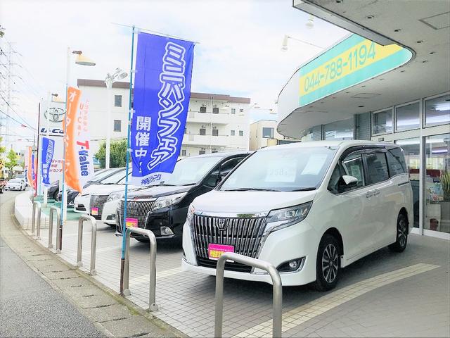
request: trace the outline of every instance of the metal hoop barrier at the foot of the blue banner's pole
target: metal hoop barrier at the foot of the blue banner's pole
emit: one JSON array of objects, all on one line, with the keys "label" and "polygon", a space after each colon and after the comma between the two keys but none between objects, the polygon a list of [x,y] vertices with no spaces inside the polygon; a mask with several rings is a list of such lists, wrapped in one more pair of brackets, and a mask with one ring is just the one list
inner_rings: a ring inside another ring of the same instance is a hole
[{"label": "metal hoop barrier at the foot of the blue banner's pole", "polygon": [[124,262],[124,296],[129,296],[129,238],[131,232],[147,236],[150,240],[150,287],[148,294],[148,311],[158,311],[156,304],[156,238],[151,230],[139,227],[127,227],[125,231],[125,262]]}]

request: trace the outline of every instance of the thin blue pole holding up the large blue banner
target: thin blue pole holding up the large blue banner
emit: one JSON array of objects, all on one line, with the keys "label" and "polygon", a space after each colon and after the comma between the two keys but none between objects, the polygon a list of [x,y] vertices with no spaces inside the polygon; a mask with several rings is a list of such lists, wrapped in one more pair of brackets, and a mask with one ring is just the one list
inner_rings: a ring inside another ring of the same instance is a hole
[{"label": "thin blue pole holding up the large blue banner", "polygon": [[134,58],[134,26],[131,32],[131,63],[129,68],[129,97],[128,97],[128,128],[127,128],[127,163],[125,170],[125,194],[124,194],[124,220],[122,222],[122,257],[120,258],[120,294],[124,291],[124,264],[125,264],[125,231],[127,230],[127,196],[128,196],[128,170],[130,153],[130,132],[131,132],[131,89],[133,84],[133,58]]}]

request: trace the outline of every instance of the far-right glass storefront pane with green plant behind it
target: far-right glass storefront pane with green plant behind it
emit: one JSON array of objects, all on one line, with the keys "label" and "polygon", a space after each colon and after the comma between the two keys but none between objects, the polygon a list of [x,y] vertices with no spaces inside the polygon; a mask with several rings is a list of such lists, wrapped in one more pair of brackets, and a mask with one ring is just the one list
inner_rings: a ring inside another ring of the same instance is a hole
[{"label": "far-right glass storefront pane with green plant behind it", "polygon": [[425,143],[424,229],[450,232],[450,134],[429,136]]}]

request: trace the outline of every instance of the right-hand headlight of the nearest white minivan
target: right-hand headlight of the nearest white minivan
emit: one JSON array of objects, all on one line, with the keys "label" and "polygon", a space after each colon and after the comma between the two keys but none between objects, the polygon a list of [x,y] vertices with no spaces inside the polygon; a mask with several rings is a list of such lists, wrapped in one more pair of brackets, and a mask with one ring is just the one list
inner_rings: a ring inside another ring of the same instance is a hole
[{"label": "right-hand headlight of the nearest white minivan", "polygon": [[266,230],[273,232],[299,223],[307,217],[311,205],[312,201],[299,206],[272,210],[266,218]]}]

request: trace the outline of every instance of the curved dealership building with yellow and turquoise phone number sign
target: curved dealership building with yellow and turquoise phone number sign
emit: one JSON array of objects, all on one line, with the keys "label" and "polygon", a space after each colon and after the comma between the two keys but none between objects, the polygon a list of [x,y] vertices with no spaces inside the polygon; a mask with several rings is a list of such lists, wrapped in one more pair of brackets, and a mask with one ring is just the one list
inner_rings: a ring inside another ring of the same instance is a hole
[{"label": "curved dealership building with yellow and turquoise phone number sign", "polygon": [[400,144],[413,232],[450,239],[449,1],[294,0],[349,31],[304,63],[278,96],[277,131],[303,142]]}]

